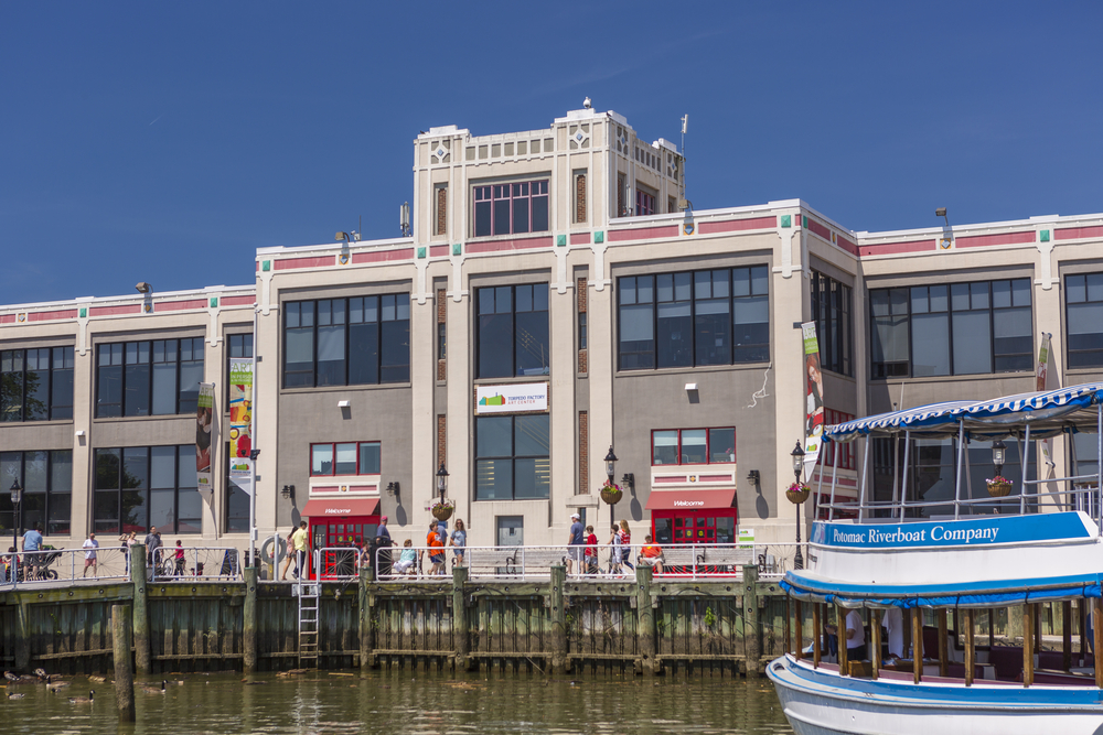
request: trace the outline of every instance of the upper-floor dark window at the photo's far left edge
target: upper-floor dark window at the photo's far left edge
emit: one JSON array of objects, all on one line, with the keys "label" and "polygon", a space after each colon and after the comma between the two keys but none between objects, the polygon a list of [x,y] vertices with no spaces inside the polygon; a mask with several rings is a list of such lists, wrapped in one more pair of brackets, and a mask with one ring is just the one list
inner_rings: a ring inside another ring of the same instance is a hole
[{"label": "upper-floor dark window at the photo's far left edge", "polygon": [[72,347],[0,352],[0,421],[72,418]]}]

